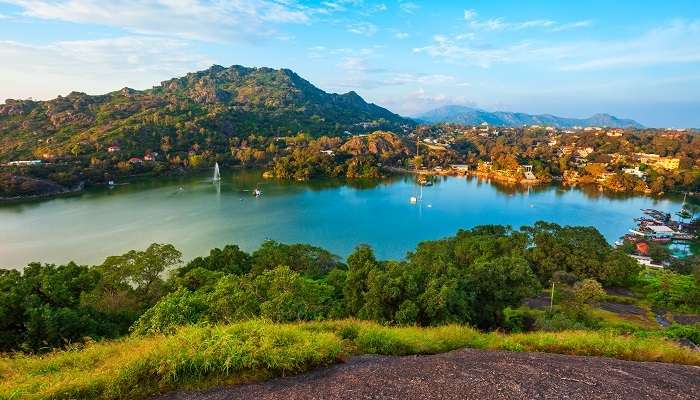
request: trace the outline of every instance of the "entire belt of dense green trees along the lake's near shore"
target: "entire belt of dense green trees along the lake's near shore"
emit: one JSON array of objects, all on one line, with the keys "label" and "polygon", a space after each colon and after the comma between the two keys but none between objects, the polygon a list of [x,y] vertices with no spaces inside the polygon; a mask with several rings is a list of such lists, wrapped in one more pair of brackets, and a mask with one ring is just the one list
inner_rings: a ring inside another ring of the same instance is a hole
[{"label": "entire belt of dense green trees along the lake's near shore", "polygon": [[[584,293],[577,298],[585,303],[598,282],[628,285],[639,272],[594,229],[542,222],[521,230],[462,230],[420,243],[401,261],[379,260],[360,245],[343,263],[318,247],[267,241],[250,254],[229,245],[180,266],[176,249],[153,244],[95,267],[32,264],[21,273],[3,271],[0,346],[37,351],[85,337],[117,337],[129,327],[146,334],[257,317],[509,328],[507,310],[552,280],[580,282],[575,293]],[[676,286],[652,285],[651,298],[698,306],[700,286],[693,278]],[[668,297],[665,290],[686,297]]]}]

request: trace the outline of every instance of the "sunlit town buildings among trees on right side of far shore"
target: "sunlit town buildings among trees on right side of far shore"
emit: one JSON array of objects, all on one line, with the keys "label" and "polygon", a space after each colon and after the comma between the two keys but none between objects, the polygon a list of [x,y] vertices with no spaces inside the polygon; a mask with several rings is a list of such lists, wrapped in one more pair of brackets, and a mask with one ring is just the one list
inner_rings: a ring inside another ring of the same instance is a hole
[{"label": "sunlit town buildings among trees on right side of far shore", "polygon": [[693,130],[482,123],[419,127],[412,135],[421,138],[420,147],[429,154],[423,173],[524,184],[556,180],[615,192],[697,191],[700,136]]}]

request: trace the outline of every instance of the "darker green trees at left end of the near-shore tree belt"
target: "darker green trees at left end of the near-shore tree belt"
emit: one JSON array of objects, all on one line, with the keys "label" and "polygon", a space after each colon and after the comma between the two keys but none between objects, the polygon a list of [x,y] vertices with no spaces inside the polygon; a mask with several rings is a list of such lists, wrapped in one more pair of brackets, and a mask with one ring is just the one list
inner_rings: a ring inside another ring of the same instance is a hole
[{"label": "darker green trees at left end of the near-shore tree belt", "polygon": [[0,270],[0,351],[37,351],[87,337],[118,337],[164,293],[180,263],[172,245],[108,257],[95,267],[33,263]]}]

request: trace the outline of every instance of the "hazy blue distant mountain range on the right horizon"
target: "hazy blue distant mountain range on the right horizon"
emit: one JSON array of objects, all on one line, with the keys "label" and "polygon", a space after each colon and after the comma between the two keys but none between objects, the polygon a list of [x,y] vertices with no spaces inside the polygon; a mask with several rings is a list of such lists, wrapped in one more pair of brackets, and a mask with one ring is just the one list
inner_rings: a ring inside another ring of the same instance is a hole
[{"label": "hazy blue distant mountain range on the right horizon", "polygon": [[444,106],[419,115],[417,120],[428,123],[454,123],[479,125],[483,122],[495,126],[547,125],[559,128],[573,126],[606,126],[611,128],[643,128],[631,119],[622,119],[610,114],[596,114],[590,118],[562,118],[551,114],[531,115],[525,113],[496,111],[489,112],[466,106]]}]

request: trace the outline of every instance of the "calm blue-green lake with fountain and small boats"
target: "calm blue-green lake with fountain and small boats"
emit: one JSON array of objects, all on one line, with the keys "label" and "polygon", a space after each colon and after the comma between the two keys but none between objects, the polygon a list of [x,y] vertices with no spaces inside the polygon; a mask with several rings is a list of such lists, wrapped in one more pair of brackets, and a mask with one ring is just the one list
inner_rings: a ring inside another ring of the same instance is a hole
[{"label": "calm blue-green lake with fountain and small boats", "polygon": [[[258,186],[263,195],[256,198]],[[418,195],[412,176],[382,181],[266,181],[258,171],[149,178],[79,196],[0,205],[0,266],[30,261],[101,263],[106,256],[172,243],[185,259],[235,243],[255,249],[265,239],[310,243],[347,256],[359,243],[382,258],[402,258],[428,239],[480,224],[514,227],[538,220],[598,228],[613,242],[642,208],[675,212],[682,198],[612,195],[596,190],[500,186],[439,178]]]}]

